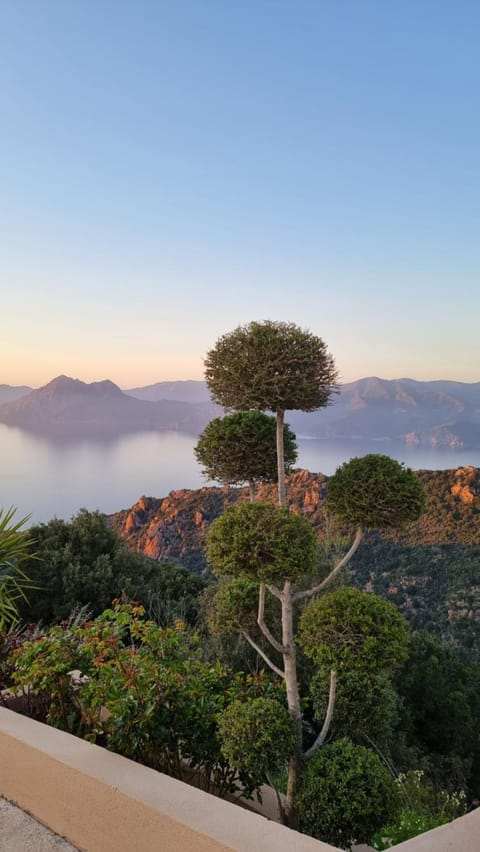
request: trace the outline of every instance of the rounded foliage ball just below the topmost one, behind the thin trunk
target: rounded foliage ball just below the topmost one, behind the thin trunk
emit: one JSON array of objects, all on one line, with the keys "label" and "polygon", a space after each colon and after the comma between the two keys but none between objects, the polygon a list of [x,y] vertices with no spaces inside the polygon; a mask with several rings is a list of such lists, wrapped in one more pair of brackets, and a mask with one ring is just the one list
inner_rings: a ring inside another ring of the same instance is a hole
[{"label": "rounded foliage ball just below the topmost one, behind the thin trunk", "polygon": [[[283,427],[285,468],[297,460],[295,435]],[[250,487],[250,499],[255,499],[258,482],[278,479],[275,417],[261,411],[237,411],[226,417],[216,417],[204,429],[194,449],[208,479],[225,485]]]}]

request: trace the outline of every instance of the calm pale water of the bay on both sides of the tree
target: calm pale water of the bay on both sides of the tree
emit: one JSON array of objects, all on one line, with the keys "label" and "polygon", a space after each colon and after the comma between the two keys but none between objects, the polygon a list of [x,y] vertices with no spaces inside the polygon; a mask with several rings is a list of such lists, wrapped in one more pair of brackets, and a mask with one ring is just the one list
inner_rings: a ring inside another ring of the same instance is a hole
[{"label": "calm pale water of the bay on both sides of the tree", "polygon": [[[116,512],[140,495],[164,497],[206,483],[193,454],[196,438],[142,432],[109,440],[65,441],[0,424],[0,507],[33,522],[70,518],[82,507]],[[387,441],[299,439],[298,466],[327,475],[352,456],[385,453],[413,469],[480,466],[480,450],[413,449]]]}]

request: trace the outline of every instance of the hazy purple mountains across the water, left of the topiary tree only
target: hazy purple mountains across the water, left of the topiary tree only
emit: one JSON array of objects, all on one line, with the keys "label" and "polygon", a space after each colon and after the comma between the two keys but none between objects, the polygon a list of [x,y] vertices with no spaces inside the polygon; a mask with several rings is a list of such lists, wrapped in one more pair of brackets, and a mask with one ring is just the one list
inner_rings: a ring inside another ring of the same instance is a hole
[{"label": "hazy purple mountains across the water, left of the topiary tree only", "polygon": [[198,434],[215,412],[211,403],[146,402],[128,396],[109,380],[86,384],[58,376],[44,387],[0,405],[0,422],[47,433],[159,429]]}]

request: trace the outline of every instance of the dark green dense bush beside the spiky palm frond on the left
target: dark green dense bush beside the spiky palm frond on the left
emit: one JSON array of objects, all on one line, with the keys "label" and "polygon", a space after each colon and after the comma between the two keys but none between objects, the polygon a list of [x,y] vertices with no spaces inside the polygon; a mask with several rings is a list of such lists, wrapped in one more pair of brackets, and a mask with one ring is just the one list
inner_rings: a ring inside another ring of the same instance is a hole
[{"label": "dark green dense bush beside the spiky palm frond on the left", "polygon": [[161,623],[193,622],[205,581],[126,547],[100,512],[79,512],[31,527],[26,570],[35,586],[19,601],[23,621],[53,624],[81,606],[99,615],[122,594],[145,604]]}]

